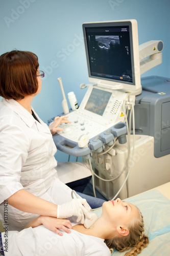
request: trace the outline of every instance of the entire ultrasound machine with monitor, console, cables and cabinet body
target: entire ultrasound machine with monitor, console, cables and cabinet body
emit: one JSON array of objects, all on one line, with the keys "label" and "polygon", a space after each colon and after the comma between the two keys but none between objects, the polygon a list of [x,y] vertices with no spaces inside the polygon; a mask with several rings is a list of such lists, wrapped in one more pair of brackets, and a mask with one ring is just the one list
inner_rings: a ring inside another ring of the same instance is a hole
[{"label": "entire ultrasound machine with monitor, console, cables and cabinet body", "polygon": [[134,19],[84,23],[83,34],[90,84],[64,113],[71,123],[53,136],[58,150],[87,161],[108,200],[170,181],[170,80],[140,78],[162,62],[163,42],[138,46]]}]

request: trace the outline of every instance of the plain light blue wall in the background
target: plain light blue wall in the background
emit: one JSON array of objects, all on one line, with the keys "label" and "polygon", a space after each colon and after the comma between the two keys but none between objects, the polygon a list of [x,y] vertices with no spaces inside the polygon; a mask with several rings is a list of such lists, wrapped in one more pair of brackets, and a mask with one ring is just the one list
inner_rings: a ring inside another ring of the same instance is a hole
[{"label": "plain light blue wall in the background", "polygon": [[[1,0],[0,54],[27,50],[39,57],[45,71],[42,90],[33,107],[43,121],[62,112],[62,78],[65,94],[74,91],[81,102],[88,83],[82,24],[104,20],[136,19],[139,45],[149,40],[164,42],[163,62],[143,76],[170,77],[169,0]],[[56,155],[67,160],[64,153]]]}]

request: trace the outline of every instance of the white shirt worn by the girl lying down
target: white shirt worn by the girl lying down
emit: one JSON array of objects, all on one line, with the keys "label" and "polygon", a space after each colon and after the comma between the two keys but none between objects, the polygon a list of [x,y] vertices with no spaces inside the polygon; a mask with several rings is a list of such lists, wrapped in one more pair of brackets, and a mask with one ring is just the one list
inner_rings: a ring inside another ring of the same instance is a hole
[{"label": "white shirt worn by the girl lying down", "polygon": [[[74,224],[72,224],[74,226]],[[5,256],[110,256],[104,239],[88,236],[71,229],[61,230],[63,236],[44,226],[8,232],[5,248],[5,233],[2,233]]]}]

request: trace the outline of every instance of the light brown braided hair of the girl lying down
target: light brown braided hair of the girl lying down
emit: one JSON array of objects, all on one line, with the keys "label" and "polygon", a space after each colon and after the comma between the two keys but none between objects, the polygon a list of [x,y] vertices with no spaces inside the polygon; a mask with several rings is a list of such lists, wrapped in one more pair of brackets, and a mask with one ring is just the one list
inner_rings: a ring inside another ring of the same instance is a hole
[{"label": "light brown braided hair of the girl lying down", "polygon": [[147,247],[149,243],[148,237],[144,235],[143,216],[140,210],[139,218],[133,220],[128,228],[128,236],[106,239],[105,243],[109,247],[109,249],[115,248],[118,251],[125,251],[131,249],[129,252],[125,253],[125,256],[136,256],[143,250],[143,248]]}]

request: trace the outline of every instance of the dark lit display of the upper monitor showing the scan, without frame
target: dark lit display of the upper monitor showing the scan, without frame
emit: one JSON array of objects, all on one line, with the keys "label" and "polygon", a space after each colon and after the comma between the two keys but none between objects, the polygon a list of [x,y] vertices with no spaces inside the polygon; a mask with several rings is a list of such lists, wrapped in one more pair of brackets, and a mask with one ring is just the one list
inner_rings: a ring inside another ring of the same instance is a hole
[{"label": "dark lit display of the upper monitor showing the scan, without frame", "polygon": [[132,82],[129,30],[87,29],[90,75]]}]

